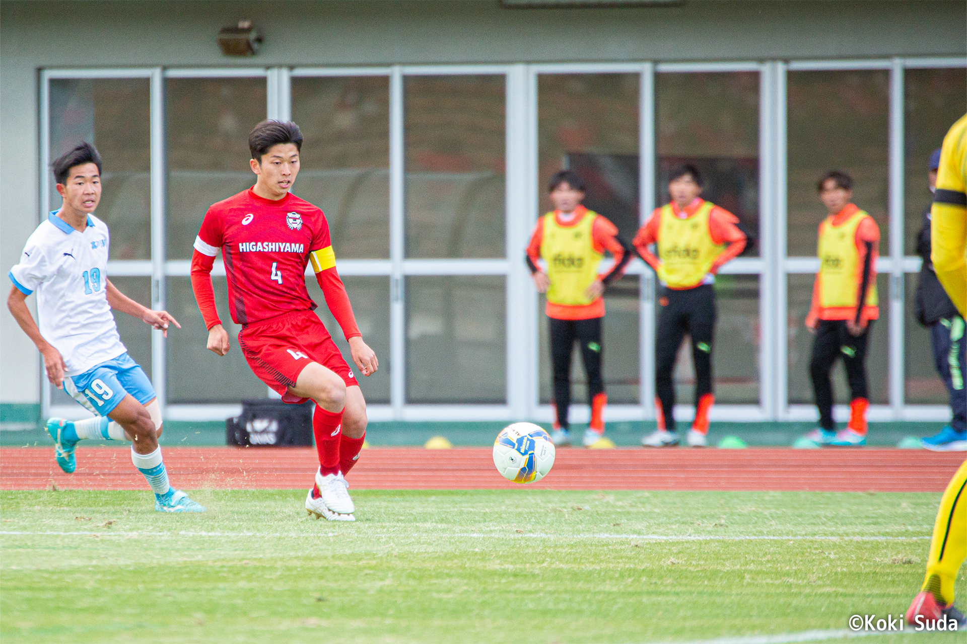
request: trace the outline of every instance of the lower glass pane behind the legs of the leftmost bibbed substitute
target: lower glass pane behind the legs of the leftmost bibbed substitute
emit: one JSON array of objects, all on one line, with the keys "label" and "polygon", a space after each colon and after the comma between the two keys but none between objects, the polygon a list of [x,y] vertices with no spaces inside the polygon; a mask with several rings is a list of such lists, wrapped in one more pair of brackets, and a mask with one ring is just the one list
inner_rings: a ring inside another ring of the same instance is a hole
[{"label": "lower glass pane behind the legs of the leftmost bibbed substitute", "polygon": [[[604,294],[603,376],[608,403],[637,405],[641,402],[641,378],[638,368],[638,276],[625,275],[608,287]],[[541,295],[541,311],[546,299]],[[553,372],[547,316],[541,314],[541,402],[550,403]],[[571,356],[571,401],[588,402],[588,379],[584,374],[580,351],[574,345]]]}]

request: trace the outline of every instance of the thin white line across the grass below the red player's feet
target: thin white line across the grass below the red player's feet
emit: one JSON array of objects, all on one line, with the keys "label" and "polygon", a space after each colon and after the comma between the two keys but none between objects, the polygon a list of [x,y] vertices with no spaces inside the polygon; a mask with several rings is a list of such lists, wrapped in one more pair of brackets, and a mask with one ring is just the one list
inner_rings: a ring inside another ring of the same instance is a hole
[{"label": "thin white line across the grass below the red player's feet", "polygon": [[[71,537],[87,535],[114,535],[116,537],[336,537],[340,534],[361,534],[361,533],[340,533],[340,532],[209,532],[202,530],[147,530],[147,531],[115,531],[106,528],[101,531],[94,530],[0,530],[0,536],[26,536],[26,537]],[[484,533],[484,532],[437,532],[437,533],[407,533],[399,532],[368,532],[370,537],[409,537],[414,539],[429,539],[433,537],[467,537],[472,539],[602,539],[602,540],[622,540],[639,539],[642,541],[659,542],[689,542],[689,541],[927,541],[930,537],[889,537],[889,536],[861,536],[861,537],[831,537],[831,536],[717,536],[717,535],[617,535],[617,534],[578,534],[578,535],[553,535],[542,533],[525,534],[505,534],[505,533]]]}]

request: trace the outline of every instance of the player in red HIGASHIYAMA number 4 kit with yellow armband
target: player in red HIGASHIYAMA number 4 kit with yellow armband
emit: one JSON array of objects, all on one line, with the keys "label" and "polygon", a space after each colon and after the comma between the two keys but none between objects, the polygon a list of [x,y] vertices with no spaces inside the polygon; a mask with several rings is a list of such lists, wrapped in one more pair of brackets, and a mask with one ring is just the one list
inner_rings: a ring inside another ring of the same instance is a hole
[{"label": "player in red HIGASHIYAMA number 4 kit with yellow armband", "polygon": [[378,368],[363,342],[349,296],[336,271],[329,224],[322,210],[289,190],[299,173],[303,136],[292,122],[263,121],[249,133],[255,185],[213,205],[201,223],[191,258],[191,288],[208,328],[208,349],[229,350],[215,306],[211,271],[221,249],[228,277],[228,308],[242,325],[239,346],[249,367],[286,403],[315,401],[312,431],[319,453],[310,516],[355,520],[346,472],[366,435],[366,401],[326,327],[312,312],[306,266],[349,342],[364,376]]}]

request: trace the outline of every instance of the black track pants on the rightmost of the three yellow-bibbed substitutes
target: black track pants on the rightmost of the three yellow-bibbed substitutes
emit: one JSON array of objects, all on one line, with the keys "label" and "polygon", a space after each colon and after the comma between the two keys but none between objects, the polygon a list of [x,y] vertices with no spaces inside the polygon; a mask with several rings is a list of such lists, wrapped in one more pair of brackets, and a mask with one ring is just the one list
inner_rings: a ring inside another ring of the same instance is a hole
[{"label": "black track pants on the rightmost of the three yellow-bibbed substitutes", "polygon": [[844,320],[820,320],[816,327],[816,339],[812,343],[812,358],[809,360],[809,376],[812,378],[812,391],[819,407],[819,426],[824,430],[835,429],[833,422],[833,371],[837,358],[843,359],[846,379],[849,381],[851,400],[868,399],[866,389],[866,341],[870,321],[863,335],[850,335]]}]

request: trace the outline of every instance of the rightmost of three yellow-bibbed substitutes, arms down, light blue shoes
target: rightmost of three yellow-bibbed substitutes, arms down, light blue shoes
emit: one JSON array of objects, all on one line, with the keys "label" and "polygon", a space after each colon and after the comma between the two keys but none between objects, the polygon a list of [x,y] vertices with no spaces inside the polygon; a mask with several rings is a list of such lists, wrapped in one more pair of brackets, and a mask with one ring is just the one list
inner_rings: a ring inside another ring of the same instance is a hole
[{"label": "rightmost of three yellow-bibbed substitutes, arms down, light blue shoes", "polygon": [[[816,334],[809,375],[819,408],[819,427],[806,439],[819,445],[864,445],[869,406],[866,344],[872,323],[880,316],[876,293],[880,229],[865,210],[850,202],[853,180],[845,172],[826,173],[817,188],[829,214],[819,224],[820,265],[806,316],[806,328]],[[830,373],[840,357],[849,381],[850,419],[837,434]]]}]

